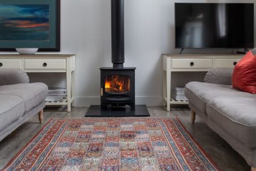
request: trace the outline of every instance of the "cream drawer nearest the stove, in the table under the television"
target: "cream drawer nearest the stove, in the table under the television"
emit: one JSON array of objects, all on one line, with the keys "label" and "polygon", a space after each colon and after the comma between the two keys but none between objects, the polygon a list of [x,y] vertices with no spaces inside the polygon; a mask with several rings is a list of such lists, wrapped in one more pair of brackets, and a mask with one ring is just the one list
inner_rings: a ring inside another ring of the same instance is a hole
[{"label": "cream drawer nearest the stove, in the table under the television", "polygon": [[204,69],[212,68],[212,58],[172,58],[173,69]]}]

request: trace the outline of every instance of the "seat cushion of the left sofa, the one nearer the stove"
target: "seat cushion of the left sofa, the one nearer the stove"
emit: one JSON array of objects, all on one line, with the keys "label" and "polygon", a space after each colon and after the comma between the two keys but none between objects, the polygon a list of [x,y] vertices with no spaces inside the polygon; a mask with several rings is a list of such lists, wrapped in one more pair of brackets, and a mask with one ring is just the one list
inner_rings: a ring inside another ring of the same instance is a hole
[{"label": "seat cushion of the left sofa, the one nearer the stove", "polygon": [[28,83],[0,86],[0,95],[17,96],[23,99],[25,113],[41,104],[48,95],[48,88],[44,83]]}]

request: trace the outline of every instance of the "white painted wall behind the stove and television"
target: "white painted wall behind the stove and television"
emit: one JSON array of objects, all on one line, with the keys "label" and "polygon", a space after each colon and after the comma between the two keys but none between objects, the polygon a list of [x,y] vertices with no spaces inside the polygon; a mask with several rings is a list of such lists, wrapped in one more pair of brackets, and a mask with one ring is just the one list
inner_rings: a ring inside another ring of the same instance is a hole
[{"label": "white painted wall behind the stove and television", "polygon": [[[174,2],[255,1],[125,0],[126,63],[124,65],[137,67],[136,103],[151,106],[162,104],[160,54],[179,52],[174,49]],[[200,52],[202,51],[195,53]],[[230,51],[219,53],[225,52],[230,53]],[[61,53],[77,54],[75,105],[99,104],[99,68],[112,66],[111,0],[61,0]],[[63,81],[60,79],[59,82],[61,84]]]}]

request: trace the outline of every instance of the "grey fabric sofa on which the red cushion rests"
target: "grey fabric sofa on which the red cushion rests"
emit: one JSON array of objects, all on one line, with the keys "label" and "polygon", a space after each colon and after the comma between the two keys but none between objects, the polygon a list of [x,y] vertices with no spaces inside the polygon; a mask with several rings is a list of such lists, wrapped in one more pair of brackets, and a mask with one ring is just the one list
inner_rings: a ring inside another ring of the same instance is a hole
[{"label": "grey fabric sofa on which the red cushion rests", "polygon": [[204,81],[185,86],[192,123],[199,115],[255,169],[256,95],[232,88],[232,68],[210,70]]}]

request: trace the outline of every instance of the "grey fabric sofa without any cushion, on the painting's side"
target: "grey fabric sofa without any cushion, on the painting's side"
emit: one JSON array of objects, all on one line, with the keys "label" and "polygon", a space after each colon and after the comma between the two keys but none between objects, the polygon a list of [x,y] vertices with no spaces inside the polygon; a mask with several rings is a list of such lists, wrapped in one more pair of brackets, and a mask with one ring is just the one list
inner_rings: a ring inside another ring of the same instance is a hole
[{"label": "grey fabric sofa without any cushion, on the painting's side", "polygon": [[48,88],[44,83],[29,83],[22,70],[0,70],[0,141],[21,124],[39,114]]}]

